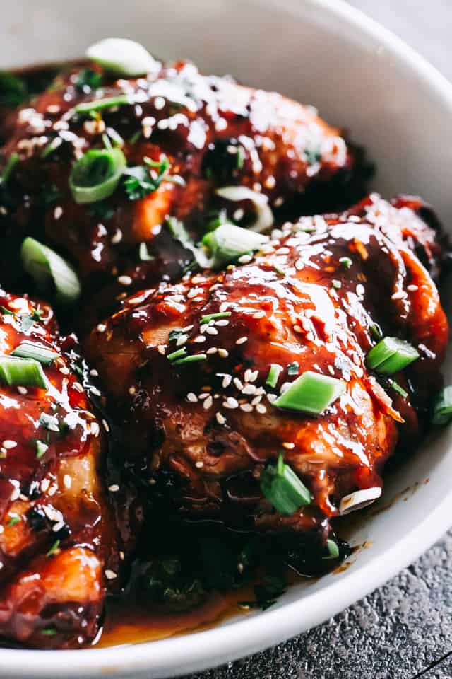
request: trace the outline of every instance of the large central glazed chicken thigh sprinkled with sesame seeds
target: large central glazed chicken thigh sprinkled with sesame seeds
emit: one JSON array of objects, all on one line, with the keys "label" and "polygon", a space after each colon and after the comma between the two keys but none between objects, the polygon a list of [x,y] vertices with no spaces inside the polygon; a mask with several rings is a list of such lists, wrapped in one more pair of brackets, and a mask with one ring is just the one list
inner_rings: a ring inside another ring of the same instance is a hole
[{"label": "large central glazed chicken thigh sprinkled with sesame seeds", "polygon": [[[179,478],[182,515],[319,530],[324,541],[342,497],[381,486],[400,434],[418,434],[448,340],[414,253],[438,256],[435,232],[410,205],[374,195],[345,214],[285,224],[246,263],[141,291],[93,330],[86,348],[124,422],[124,455],[155,485],[163,471]],[[202,322],[215,313],[228,315]],[[395,376],[407,397],[367,368],[376,327],[420,352]],[[198,359],[169,359],[177,350]],[[270,364],[284,368],[276,388],[266,385]],[[343,396],[320,417],[272,405],[308,370],[345,380]],[[279,451],[314,496],[288,518],[258,484]]]}]

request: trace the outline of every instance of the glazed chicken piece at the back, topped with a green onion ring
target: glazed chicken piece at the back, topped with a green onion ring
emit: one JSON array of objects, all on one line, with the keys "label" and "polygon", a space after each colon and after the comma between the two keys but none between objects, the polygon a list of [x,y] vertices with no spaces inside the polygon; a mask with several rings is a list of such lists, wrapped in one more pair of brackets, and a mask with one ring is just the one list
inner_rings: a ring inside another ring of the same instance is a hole
[{"label": "glazed chicken piece at the back, topped with a green onion ring", "polygon": [[[100,67],[93,69],[102,74]],[[153,73],[136,80],[112,81],[102,74],[102,91],[78,86],[80,73],[77,67],[59,76],[6,122],[11,136],[2,150],[4,161],[13,153],[20,158],[4,206],[6,264],[21,238],[32,235],[69,257],[90,292],[114,282],[111,295],[117,295],[124,293],[124,284],[117,284],[121,274],[137,278],[141,287],[148,277],[153,284],[158,262],[141,262],[138,248],[149,243],[153,249],[167,216],[184,220],[198,235],[211,209],[225,207],[232,214],[241,208],[243,221],[251,218],[249,200],[220,199],[216,187],[250,187],[266,195],[277,214],[298,216],[345,207],[352,202],[349,193],[354,195],[362,184],[355,151],[340,131],[314,108],[279,94],[239,86],[227,77],[203,76],[187,62],[155,62]],[[74,114],[76,105],[124,93],[129,105],[105,108],[94,119]],[[116,132],[113,143],[118,135],[124,140],[129,166],[141,165],[145,157],[159,161],[166,156],[168,180],[143,199],[130,200],[121,183],[100,207],[77,204],[69,190],[71,166],[88,149],[103,148],[111,130]],[[158,251],[162,257],[162,248]],[[184,250],[178,254],[186,263]],[[169,260],[177,271],[175,255]],[[16,269],[10,265],[8,270],[14,278]]]}]

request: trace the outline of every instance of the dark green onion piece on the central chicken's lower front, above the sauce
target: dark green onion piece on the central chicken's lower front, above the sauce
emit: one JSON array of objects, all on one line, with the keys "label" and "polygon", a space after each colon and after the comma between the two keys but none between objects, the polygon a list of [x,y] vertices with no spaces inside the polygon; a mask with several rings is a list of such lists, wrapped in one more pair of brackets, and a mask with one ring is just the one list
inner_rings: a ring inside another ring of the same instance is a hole
[{"label": "dark green onion piece on the central chicken's lower front, above the sauce", "polygon": [[309,489],[285,464],[281,454],[276,465],[268,465],[261,473],[261,491],[276,511],[285,516],[291,516],[312,500]]}]

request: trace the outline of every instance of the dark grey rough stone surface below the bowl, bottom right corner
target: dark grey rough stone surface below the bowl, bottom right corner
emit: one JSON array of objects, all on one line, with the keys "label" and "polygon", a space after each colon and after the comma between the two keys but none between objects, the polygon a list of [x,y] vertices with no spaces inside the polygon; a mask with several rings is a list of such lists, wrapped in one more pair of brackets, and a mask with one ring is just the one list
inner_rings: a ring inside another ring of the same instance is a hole
[{"label": "dark grey rough stone surface below the bowl, bottom right corner", "polygon": [[[452,651],[452,531],[340,615],[191,679],[415,679]],[[450,679],[452,656],[422,674]]]}]

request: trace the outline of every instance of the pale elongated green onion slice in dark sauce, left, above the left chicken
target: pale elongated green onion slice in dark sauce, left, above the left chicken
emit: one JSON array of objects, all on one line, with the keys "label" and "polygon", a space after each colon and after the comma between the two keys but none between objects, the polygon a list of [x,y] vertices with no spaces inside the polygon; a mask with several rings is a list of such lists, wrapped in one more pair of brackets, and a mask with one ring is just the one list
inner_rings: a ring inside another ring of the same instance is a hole
[{"label": "pale elongated green onion slice in dark sauce, left, above the left chicken", "polygon": [[45,294],[53,286],[57,302],[71,304],[77,301],[81,294],[78,276],[54,250],[28,237],[22,243],[20,257],[25,271],[34,279],[40,291]]}]

